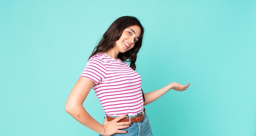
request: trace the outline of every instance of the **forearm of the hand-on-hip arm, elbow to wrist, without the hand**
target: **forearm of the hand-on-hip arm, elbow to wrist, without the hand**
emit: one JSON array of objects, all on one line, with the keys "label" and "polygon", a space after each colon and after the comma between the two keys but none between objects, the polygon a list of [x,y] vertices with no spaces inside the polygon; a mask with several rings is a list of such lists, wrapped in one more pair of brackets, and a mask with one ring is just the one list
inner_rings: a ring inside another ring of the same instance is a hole
[{"label": "forearm of the hand-on-hip arm, elbow to wrist, without the hand", "polygon": [[83,108],[83,106],[75,106],[72,109],[66,110],[74,119],[79,121],[81,124],[90,128],[91,130],[103,135],[104,127],[98,121],[96,121],[92,116]]}]

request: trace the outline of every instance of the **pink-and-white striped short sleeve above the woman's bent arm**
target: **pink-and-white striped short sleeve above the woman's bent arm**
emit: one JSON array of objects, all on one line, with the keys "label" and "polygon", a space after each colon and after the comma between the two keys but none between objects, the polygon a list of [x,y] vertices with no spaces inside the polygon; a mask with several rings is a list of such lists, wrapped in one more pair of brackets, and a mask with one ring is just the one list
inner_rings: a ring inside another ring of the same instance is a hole
[{"label": "pink-and-white striped short sleeve above the woman's bent arm", "polygon": [[88,60],[81,76],[89,78],[98,84],[106,76],[106,67],[99,57],[92,57]]}]

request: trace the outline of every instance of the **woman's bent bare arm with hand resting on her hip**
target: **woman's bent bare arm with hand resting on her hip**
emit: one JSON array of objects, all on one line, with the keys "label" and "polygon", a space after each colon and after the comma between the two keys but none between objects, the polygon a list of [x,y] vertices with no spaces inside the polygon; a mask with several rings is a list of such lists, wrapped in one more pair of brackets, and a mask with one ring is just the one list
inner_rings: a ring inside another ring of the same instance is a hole
[{"label": "woman's bent bare arm with hand resting on her hip", "polygon": [[122,115],[110,122],[104,119],[104,123],[101,125],[85,110],[83,102],[94,84],[92,80],[80,77],[67,98],[65,111],[86,127],[103,136],[110,136],[115,133],[127,133],[126,131],[118,130],[129,127],[131,122],[118,123],[118,121],[125,118],[126,115]]}]

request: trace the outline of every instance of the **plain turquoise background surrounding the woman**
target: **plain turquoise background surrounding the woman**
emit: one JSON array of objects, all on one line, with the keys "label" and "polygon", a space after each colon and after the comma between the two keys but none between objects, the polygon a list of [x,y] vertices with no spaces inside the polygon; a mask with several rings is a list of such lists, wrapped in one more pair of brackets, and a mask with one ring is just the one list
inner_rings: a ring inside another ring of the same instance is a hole
[{"label": "plain turquoise background surrounding the woman", "polygon": [[[256,0],[1,0],[0,135],[97,136],[65,102],[124,15],[145,27],[144,92],[191,82],[146,106],[155,136],[256,136]],[[103,122],[93,91],[84,106]]]}]

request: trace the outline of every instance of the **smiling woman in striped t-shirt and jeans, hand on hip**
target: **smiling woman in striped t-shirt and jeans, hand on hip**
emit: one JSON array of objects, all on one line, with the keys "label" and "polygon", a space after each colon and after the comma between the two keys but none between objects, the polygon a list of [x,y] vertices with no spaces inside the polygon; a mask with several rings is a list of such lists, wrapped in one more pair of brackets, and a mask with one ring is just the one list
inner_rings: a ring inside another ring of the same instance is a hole
[{"label": "smiling woman in striped t-shirt and jeans, hand on hip", "polygon": [[[115,20],[95,47],[67,99],[66,112],[100,135],[152,136],[144,106],[171,89],[184,91],[189,87],[189,84],[172,82],[143,94],[141,77],[134,71],[143,33],[144,28],[135,17]],[[130,62],[130,66],[124,61]],[[91,88],[106,113],[103,125],[82,105]]]}]

